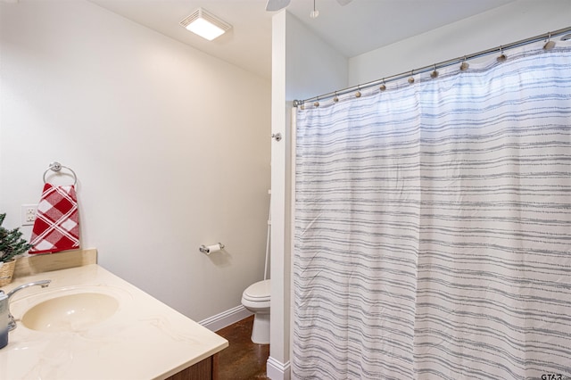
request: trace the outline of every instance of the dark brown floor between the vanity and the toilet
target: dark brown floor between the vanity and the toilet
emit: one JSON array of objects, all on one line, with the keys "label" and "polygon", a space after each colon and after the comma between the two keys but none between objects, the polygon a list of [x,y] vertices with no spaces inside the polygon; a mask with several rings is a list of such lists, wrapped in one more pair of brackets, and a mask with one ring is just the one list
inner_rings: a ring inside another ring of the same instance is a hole
[{"label": "dark brown floor between the vanity and the toilet", "polygon": [[269,380],[266,361],[269,344],[252,343],[253,316],[216,332],[228,340],[219,353],[219,380]]}]

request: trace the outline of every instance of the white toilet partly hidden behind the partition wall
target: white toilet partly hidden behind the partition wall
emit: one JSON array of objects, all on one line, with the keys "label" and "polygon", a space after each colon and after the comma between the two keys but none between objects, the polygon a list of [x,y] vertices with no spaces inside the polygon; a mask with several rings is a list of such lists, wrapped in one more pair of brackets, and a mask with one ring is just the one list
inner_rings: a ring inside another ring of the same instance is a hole
[{"label": "white toilet partly hidden behind the partition wall", "polygon": [[257,344],[269,344],[269,281],[252,284],[242,293],[244,308],[254,313],[252,342]]}]

